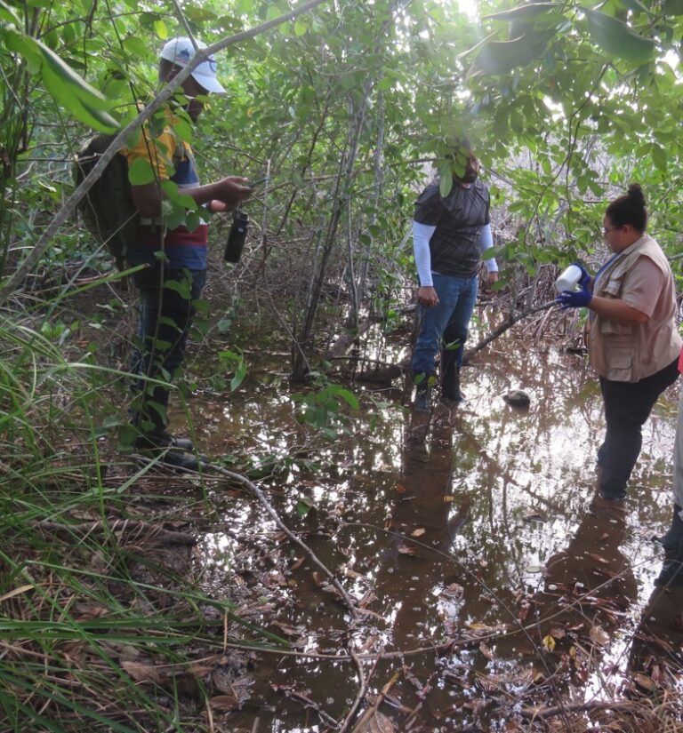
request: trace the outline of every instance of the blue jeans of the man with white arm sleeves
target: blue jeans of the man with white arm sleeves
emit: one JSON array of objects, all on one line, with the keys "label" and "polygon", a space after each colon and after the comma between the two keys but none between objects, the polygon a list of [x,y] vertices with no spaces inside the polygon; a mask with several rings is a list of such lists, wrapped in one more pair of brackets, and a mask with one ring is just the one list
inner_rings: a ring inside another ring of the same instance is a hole
[{"label": "blue jeans of the man with white arm sleeves", "polygon": [[478,275],[457,277],[432,273],[438,306],[422,307],[422,328],[415,344],[414,374],[433,374],[442,339],[445,352],[453,355],[454,368],[462,366],[463,346],[477,302]]}]

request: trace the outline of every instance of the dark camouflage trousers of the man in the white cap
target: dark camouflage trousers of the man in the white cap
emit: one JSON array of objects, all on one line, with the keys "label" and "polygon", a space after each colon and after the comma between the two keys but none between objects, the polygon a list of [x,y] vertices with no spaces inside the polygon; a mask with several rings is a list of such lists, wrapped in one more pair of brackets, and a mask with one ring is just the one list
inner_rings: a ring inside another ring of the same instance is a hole
[{"label": "dark camouflage trousers of the man in the white cap", "polygon": [[[138,343],[131,356],[130,370],[171,382],[185,361],[196,301],[206,283],[205,270],[171,270],[157,263],[133,274],[140,291]],[[131,413],[133,425],[142,434],[161,435],[166,431],[169,386],[133,380]]]}]

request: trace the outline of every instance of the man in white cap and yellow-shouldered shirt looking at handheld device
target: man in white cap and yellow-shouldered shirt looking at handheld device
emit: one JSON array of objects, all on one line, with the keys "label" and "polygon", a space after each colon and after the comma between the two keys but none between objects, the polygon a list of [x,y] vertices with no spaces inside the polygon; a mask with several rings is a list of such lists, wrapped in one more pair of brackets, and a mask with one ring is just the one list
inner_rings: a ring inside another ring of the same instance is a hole
[{"label": "man in white cap and yellow-shouldered shirt looking at handheld device", "polygon": [[[204,47],[203,44],[198,44]],[[189,38],[173,38],[165,44],[159,58],[159,80],[170,82],[195,55]],[[212,58],[199,64],[181,84],[187,98],[184,105],[193,122],[204,104],[200,99],[209,92],[225,92],[216,78],[216,62]],[[172,103],[173,104],[173,103]],[[129,248],[128,264],[148,265],[133,280],[141,296],[140,326],[137,349],[133,354],[132,371],[141,377],[167,382],[182,366],[195,304],[206,282],[206,245],[208,225],[197,219],[188,226],[168,228],[162,218],[165,197],[163,184],[172,181],[180,195],[189,195],[210,213],[230,211],[253,193],[244,186],[245,179],[229,176],[214,183],[200,185],[192,149],[175,131],[180,117],[173,108],[165,110],[163,131],[153,137],[145,127],[131,147],[122,152],[129,166],[143,159],[151,164],[154,180],[132,187],[133,203],[141,220],[137,242]],[[189,219],[191,219],[191,212]],[[197,470],[199,460],[186,438],[174,438],[168,432],[166,409],[168,386],[157,385],[143,378],[135,380],[131,407],[136,429],[134,447],[150,458],[160,458],[166,465]]]}]

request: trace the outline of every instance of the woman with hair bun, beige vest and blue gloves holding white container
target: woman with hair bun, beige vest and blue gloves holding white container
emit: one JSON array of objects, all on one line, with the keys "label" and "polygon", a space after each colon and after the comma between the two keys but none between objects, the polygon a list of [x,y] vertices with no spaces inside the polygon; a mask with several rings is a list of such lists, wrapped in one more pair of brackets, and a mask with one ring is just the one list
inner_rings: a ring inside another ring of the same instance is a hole
[{"label": "woman with hair bun, beige vest and blue gloves holding white container", "polygon": [[602,220],[612,256],[578,291],[563,291],[564,308],[587,307],[589,355],[605,402],[607,434],[598,450],[598,490],[626,498],[644,425],[657,398],[679,376],[681,339],[676,290],[662,248],[646,234],[647,209],[638,184],[609,203]]}]

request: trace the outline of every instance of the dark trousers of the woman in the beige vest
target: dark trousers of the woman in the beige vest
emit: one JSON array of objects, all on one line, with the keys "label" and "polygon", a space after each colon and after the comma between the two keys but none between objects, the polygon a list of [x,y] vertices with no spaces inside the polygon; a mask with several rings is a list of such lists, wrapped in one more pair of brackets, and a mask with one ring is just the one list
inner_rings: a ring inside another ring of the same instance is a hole
[{"label": "dark trousers of the woman in the beige vest", "polygon": [[615,382],[600,377],[607,433],[598,450],[598,483],[602,496],[626,496],[626,483],[640,455],[642,426],[660,394],[679,376],[678,358],[639,382]]}]

